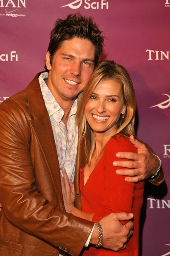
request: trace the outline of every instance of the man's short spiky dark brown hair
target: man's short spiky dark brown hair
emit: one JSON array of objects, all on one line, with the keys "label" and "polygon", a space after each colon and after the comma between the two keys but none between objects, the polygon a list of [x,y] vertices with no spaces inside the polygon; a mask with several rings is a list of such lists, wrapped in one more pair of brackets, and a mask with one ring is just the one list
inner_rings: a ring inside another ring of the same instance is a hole
[{"label": "man's short spiky dark brown hair", "polygon": [[[95,65],[102,52],[104,36],[94,22],[92,17],[82,16],[80,14],[69,14],[66,19],[57,19],[54,29],[51,31],[48,51],[50,52],[50,64],[52,64],[54,54],[62,46],[65,40],[71,40],[75,36],[82,39],[88,39],[95,47]],[[47,67],[45,65],[45,70]]]}]

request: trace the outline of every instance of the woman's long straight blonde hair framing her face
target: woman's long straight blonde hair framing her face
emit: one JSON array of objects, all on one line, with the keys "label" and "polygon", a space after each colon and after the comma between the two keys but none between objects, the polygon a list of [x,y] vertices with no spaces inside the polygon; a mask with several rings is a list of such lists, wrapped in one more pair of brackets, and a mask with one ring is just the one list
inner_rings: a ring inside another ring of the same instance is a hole
[{"label": "woman's long straight blonde hair framing her face", "polygon": [[[85,157],[88,159],[88,163],[91,162],[95,149],[94,133],[88,122],[86,121],[84,109],[88,100],[91,97],[95,87],[102,79],[111,79],[121,85],[122,93],[124,97],[124,104],[126,106],[125,114],[121,114],[119,121],[117,122],[117,131],[114,135],[121,133],[127,137],[135,135],[134,122],[136,111],[136,98],[133,88],[133,83],[130,76],[119,64],[114,61],[100,61],[94,72],[88,81],[85,90],[79,94],[78,106],[77,106],[77,125],[79,127],[79,143],[85,140]],[[89,136],[90,133],[90,136]]]}]

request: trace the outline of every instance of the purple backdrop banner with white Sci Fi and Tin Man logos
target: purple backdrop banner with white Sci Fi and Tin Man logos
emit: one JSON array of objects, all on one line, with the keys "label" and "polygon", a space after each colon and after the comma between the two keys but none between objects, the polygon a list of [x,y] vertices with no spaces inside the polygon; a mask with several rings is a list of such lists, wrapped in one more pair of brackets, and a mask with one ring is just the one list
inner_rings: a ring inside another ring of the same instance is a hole
[{"label": "purple backdrop banner with white Sci Fi and Tin Man logos", "polygon": [[125,66],[138,105],[138,137],[160,157],[166,180],[146,183],[141,256],[170,255],[170,0],[0,0],[0,102],[44,70],[57,18],[92,16],[105,35],[102,59]]}]

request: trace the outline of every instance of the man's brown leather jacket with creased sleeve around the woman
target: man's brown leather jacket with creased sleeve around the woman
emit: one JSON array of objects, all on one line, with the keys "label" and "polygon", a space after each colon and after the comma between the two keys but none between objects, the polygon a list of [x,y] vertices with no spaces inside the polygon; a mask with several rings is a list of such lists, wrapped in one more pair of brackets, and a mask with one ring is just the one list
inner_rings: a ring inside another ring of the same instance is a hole
[{"label": "man's brown leather jacket with creased sleeve around the woman", "polygon": [[1,256],[77,256],[93,227],[65,212],[38,76],[0,105],[0,202]]}]

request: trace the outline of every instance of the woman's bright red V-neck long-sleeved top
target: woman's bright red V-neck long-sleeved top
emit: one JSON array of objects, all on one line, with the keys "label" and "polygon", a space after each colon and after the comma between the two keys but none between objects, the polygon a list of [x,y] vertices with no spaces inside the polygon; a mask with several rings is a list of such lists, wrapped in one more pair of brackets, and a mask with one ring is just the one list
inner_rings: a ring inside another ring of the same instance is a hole
[{"label": "woman's bright red V-neck long-sleeved top", "polygon": [[[116,139],[111,138],[106,144],[103,155],[85,183],[85,186],[83,185],[83,169],[80,169],[82,211],[94,213],[94,222],[99,221],[111,212],[133,212],[133,236],[125,250],[114,252],[90,245],[88,248],[84,248],[80,255],[108,256],[119,254],[123,256],[138,256],[139,217],[143,202],[144,182],[129,183],[125,181],[125,176],[116,175],[116,169],[118,168],[113,166],[113,161],[118,160],[115,154],[120,151],[137,153],[136,148],[130,143],[128,138],[120,135],[116,136]],[[122,221],[122,223],[125,224],[127,221]]]}]

